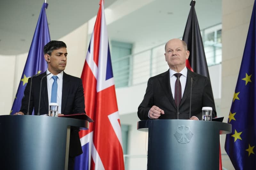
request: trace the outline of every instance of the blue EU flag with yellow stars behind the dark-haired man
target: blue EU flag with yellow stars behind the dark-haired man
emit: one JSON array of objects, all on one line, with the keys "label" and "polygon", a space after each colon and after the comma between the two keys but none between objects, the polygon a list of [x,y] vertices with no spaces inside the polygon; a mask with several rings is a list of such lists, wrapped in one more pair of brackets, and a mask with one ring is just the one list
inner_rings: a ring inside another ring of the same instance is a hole
[{"label": "blue EU flag with yellow stars behind the dark-haired man", "polygon": [[12,105],[11,115],[20,111],[21,99],[23,98],[28,78],[37,73],[44,72],[47,69],[47,62],[44,60],[44,45],[50,41],[50,33],[45,13],[47,6],[47,3],[42,5],[36,30],[28,52],[28,58],[20,79],[20,85]]}]

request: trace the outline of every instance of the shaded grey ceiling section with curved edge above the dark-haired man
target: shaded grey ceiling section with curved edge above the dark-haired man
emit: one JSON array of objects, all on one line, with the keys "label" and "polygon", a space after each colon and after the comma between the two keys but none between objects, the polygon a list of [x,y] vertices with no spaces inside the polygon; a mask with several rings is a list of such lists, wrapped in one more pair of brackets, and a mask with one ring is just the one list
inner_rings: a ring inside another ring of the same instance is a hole
[{"label": "shaded grey ceiling section with curved edge above the dark-haired man", "polygon": [[[106,0],[107,8],[116,0]],[[51,40],[57,40],[83,25],[99,9],[100,0],[47,0],[46,15]],[[43,0],[1,0],[0,54],[28,52]]]}]

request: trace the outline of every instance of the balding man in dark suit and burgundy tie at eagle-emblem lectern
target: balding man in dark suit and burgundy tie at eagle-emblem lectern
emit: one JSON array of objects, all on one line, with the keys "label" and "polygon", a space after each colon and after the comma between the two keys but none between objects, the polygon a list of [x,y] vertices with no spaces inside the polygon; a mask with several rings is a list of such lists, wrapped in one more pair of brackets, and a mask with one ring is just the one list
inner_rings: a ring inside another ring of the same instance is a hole
[{"label": "balding man in dark suit and burgundy tie at eagle-emblem lectern", "polygon": [[170,69],[148,79],[144,99],[138,108],[140,120],[177,118],[201,120],[202,107],[212,107],[212,117],[215,117],[216,110],[210,80],[186,67],[186,59],[189,57],[186,42],[180,39],[168,41],[165,44],[164,55]]}]

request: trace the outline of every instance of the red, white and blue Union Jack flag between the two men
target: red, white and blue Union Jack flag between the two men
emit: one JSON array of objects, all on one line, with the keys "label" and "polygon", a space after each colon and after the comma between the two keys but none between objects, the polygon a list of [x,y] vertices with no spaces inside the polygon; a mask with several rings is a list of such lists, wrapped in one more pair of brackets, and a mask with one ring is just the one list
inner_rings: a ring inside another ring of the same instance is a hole
[{"label": "red, white and blue Union Jack flag between the two men", "polygon": [[103,2],[100,2],[94,30],[82,72],[85,111],[93,123],[79,132],[83,154],[75,170],[124,170],[121,125],[108,44]]}]

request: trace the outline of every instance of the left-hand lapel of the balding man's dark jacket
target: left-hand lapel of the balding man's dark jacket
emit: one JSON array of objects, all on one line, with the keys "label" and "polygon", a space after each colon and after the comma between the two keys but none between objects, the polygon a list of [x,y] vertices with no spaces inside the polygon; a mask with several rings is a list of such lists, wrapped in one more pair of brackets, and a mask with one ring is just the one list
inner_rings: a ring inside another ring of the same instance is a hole
[{"label": "left-hand lapel of the balding man's dark jacket", "polygon": [[172,97],[172,90],[171,90],[171,84],[170,84],[170,71],[167,70],[164,72],[161,77],[159,77],[160,85],[163,87],[164,93],[166,94],[168,100],[171,102],[173,107],[177,108],[174,102],[174,99]]}]

